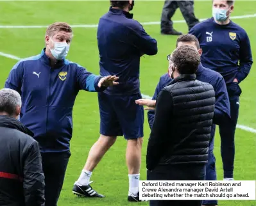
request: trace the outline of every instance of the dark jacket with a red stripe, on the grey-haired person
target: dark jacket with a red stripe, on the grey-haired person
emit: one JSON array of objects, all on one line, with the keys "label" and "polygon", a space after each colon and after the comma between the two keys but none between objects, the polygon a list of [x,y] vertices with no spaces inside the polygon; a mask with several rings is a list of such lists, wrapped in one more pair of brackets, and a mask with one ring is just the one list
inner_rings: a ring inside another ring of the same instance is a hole
[{"label": "dark jacket with a red stripe, on the grey-haired person", "polygon": [[18,120],[0,116],[0,205],[44,206],[44,173],[37,141]]}]

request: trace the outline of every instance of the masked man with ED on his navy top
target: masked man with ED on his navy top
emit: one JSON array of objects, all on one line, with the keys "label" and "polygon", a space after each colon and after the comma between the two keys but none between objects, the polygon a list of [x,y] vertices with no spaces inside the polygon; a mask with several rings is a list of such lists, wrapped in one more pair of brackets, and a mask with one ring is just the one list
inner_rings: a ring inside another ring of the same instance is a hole
[{"label": "masked man with ED on his navy top", "polygon": [[239,83],[247,77],[253,63],[246,31],[230,20],[233,10],[234,1],[213,1],[213,17],[189,31],[203,49],[201,63],[223,75],[228,90],[231,120],[219,127],[224,180],[234,179],[235,127],[242,92]]}]

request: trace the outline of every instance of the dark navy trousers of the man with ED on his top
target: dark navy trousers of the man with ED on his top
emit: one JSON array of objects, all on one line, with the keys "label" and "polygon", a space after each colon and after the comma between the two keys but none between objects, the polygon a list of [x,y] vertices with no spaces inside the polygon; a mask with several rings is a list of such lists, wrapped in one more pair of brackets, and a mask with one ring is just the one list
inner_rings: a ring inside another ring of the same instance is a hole
[{"label": "dark navy trousers of the man with ED on his top", "polygon": [[235,127],[239,115],[239,96],[242,90],[237,83],[226,85],[230,101],[231,120],[225,125],[219,125],[221,136],[221,157],[223,162],[224,178],[233,178],[235,161]]}]

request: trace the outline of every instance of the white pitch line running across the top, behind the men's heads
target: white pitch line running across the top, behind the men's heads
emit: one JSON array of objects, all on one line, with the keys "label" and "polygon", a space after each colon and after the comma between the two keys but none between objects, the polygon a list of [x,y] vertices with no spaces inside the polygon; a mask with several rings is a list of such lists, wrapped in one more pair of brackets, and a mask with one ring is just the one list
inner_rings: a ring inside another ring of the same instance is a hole
[{"label": "white pitch line running across the top, behind the men's heads", "polygon": [[[256,13],[249,14],[249,15],[241,15],[241,16],[234,16],[231,17],[231,19],[248,19],[256,17]],[[200,22],[206,20],[206,19],[200,19]],[[185,23],[185,20],[173,20],[175,23]],[[141,23],[142,25],[158,25],[160,22],[144,22]],[[77,25],[71,25],[72,28],[98,28],[98,24],[77,24]],[[21,25],[21,26],[15,26],[15,25],[0,25],[0,29],[40,29],[40,28],[47,28],[47,26],[40,26],[40,25]]]}]

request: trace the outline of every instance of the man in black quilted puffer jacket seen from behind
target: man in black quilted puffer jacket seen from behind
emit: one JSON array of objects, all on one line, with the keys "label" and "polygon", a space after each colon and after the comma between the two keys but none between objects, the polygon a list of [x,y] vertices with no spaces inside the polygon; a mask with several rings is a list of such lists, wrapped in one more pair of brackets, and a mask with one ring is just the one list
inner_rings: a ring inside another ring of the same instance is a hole
[{"label": "man in black quilted puffer jacket seen from behind", "polygon": [[[205,180],[215,91],[196,80],[199,63],[194,47],[178,47],[171,56],[174,79],[157,97],[146,157],[148,180]],[[201,201],[155,200],[150,205],[201,206]]]}]

